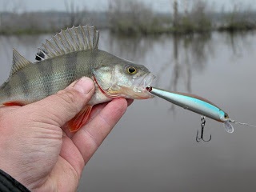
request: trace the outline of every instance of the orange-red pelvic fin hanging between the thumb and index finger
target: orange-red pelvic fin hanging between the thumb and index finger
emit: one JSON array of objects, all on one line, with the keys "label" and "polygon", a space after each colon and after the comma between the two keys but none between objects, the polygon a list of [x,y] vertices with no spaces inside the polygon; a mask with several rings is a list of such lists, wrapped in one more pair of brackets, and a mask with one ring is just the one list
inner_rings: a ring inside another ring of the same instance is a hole
[{"label": "orange-red pelvic fin hanging between the thumb and index finger", "polygon": [[70,132],[75,132],[86,124],[92,108],[93,106],[86,106],[83,110],[76,114],[74,118],[67,122]]}]

